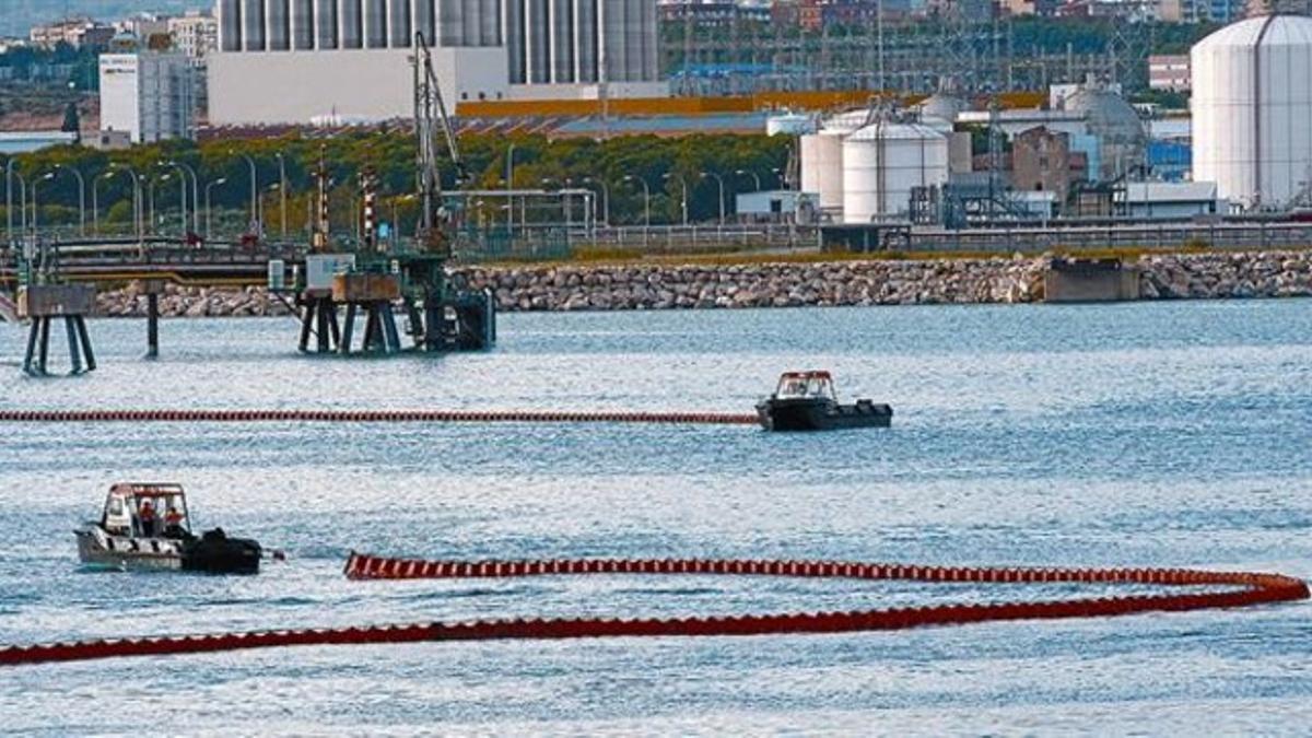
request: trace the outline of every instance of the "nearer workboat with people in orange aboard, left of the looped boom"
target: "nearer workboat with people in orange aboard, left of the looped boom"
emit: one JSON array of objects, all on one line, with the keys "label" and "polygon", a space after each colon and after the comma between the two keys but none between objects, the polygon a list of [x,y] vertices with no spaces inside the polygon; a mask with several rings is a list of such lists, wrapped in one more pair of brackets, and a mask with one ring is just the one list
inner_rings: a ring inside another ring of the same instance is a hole
[{"label": "nearer workboat with people in orange aboard, left of the looped boom", "polygon": [[73,531],[83,563],[122,570],[257,574],[262,550],[222,528],[192,533],[178,485],[119,483],[109,488],[98,521]]}]

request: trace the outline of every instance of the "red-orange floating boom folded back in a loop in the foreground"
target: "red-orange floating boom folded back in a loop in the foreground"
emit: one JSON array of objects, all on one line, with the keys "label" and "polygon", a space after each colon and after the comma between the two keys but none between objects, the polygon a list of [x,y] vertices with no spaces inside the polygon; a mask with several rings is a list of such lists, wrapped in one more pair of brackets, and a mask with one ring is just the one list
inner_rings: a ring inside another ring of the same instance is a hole
[{"label": "red-orange floating boom folded back in a loop in the foreground", "polygon": [[1103,583],[1161,587],[1220,587],[1216,591],[1060,599],[992,604],[939,604],[854,612],[807,612],[707,617],[563,617],[420,622],[300,630],[260,630],[206,636],[168,636],[0,647],[0,664],[33,664],[114,657],[194,654],[279,646],[413,643],[426,641],[604,638],[644,636],[765,636],[897,630],[997,620],[1111,617],[1140,612],[1249,607],[1304,600],[1302,579],[1279,574],[1194,571],[1185,569],[1000,569],[904,563],[756,559],[564,559],[564,561],[420,561],[352,553],[350,579],[466,579],[596,574],[808,576],[934,583],[1047,584]]}]

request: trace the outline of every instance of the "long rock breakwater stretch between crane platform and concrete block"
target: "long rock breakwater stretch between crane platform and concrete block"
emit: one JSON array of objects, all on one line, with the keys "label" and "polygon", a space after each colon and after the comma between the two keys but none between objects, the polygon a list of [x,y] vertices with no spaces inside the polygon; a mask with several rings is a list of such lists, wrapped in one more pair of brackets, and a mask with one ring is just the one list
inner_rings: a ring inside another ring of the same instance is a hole
[{"label": "long rock breakwater stretch between crane platform and concrete block", "polygon": [[501,310],[1033,302],[1042,259],[472,269]]}]

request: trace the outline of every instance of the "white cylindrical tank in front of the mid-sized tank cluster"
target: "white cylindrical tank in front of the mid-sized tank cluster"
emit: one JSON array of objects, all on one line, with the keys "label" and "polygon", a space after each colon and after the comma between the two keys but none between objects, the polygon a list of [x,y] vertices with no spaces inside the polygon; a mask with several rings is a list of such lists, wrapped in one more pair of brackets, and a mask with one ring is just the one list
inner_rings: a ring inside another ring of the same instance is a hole
[{"label": "white cylindrical tank in front of the mid-sized tank cluster", "polygon": [[916,186],[947,183],[947,137],[924,123],[882,121],[842,143],[842,221],[904,217]]}]

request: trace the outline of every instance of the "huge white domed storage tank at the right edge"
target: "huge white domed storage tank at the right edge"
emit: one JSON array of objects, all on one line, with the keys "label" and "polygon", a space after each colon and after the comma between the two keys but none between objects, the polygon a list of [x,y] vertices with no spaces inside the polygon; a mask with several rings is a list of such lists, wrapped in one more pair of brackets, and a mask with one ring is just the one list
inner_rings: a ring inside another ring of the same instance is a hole
[{"label": "huge white domed storage tank at the right edge", "polygon": [[1190,63],[1194,181],[1246,207],[1288,204],[1312,167],[1312,18],[1228,25]]}]

